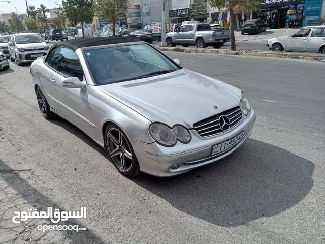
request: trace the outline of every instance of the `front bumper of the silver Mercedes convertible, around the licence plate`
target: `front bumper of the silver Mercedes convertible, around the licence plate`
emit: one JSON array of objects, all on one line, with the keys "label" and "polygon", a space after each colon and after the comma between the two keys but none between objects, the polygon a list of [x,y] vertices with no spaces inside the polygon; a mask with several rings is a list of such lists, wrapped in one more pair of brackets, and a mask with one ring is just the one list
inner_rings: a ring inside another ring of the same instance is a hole
[{"label": "front bumper of the silver Mercedes convertible, around the licence plate", "polygon": [[[233,153],[250,136],[255,120],[256,114],[252,109],[248,116],[245,116],[245,119],[228,133],[212,138],[202,138],[196,131],[190,130],[191,142],[188,144],[178,142],[174,147],[164,147],[157,143],[146,144],[133,140],[132,144],[139,161],[140,170],[158,177],[169,177],[213,163]],[[211,155],[213,145],[231,140],[241,132],[245,133],[242,141],[219,154]],[[179,164],[180,167],[173,170],[170,168],[173,164]]]}]

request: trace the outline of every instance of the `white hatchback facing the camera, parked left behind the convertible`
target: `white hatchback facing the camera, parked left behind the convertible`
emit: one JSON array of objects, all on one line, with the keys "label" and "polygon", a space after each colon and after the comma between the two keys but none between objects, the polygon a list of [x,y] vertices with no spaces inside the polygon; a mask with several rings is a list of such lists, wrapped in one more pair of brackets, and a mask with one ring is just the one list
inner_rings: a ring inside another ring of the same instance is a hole
[{"label": "white hatchback facing the camera, parked left behind the convertible", "polygon": [[8,42],[11,62],[18,66],[32,63],[36,58],[46,56],[49,46],[36,33],[19,33],[11,35]]}]

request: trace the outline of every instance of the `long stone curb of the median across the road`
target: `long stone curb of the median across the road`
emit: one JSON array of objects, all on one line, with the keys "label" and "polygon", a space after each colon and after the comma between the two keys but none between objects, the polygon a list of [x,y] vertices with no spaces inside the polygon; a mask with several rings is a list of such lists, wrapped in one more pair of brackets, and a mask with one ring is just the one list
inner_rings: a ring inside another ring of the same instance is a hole
[{"label": "long stone curb of the median across the road", "polygon": [[272,51],[257,51],[238,49],[231,51],[228,49],[205,49],[205,48],[176,48],[176,47],[156,47],[163,52],[185,52],[185,53],[208,53],[208,54],[226,54],[226,55],[241,55],[241,56],[256,56],[256,57],[270,57],[282,59],[302,59],[306,61],[325,62],[325,55],[320,54],[305,54],[305,53],[276,53]]}]

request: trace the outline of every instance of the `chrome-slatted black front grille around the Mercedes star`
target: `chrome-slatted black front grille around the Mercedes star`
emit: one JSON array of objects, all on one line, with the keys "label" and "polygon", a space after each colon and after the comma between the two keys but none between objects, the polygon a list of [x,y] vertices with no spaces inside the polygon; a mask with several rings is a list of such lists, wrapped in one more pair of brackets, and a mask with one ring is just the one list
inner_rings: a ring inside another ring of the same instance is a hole
[{"label": "chrome-slatted black front grille around the Mercedes star", "polygon": [[228,131],[238,125],[243,118],[242,110],[237,106],[194,123],[194,130],[196,130],[196,132],[202,137],[215,136],[224,132],[219,125],[219,118],[221,115],[228,117],[230,120],[230,128]]}]

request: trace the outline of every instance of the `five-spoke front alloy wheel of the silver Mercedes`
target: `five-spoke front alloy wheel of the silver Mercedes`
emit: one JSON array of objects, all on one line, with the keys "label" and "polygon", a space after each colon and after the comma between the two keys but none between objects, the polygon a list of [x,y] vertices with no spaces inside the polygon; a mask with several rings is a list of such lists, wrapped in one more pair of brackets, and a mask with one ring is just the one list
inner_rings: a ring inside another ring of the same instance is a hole
[{"label": "five-spoke front alloy wheel of the silver Mercedes", "polygon": [[122,132],[111,128],[107,132],[107,146],[116,167],[122,172],[129,171],[133,165],[132,150]]}]

